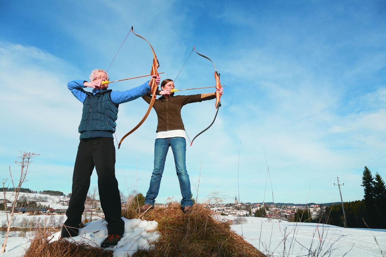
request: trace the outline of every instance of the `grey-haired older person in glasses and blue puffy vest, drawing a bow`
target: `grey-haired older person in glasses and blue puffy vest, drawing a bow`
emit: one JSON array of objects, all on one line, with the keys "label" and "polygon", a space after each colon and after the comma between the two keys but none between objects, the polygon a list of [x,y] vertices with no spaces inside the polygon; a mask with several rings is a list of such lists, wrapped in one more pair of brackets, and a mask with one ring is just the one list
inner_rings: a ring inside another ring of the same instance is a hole
[{"label": "grey-haired older person in glasses and blue puffy vest, drawing a bow", "polygon": [[[159,85],[159,76],[156,84]],[[121,218],[121,201],[118,181],[115,178],[115,146],[113,133],[117,123],[118,106],[135,100],[150,90],[150,81],[127,91],[107,90],[108,74],[102,69],[94,69],[90,82],[73,80],[68,89],[83,103],[83,113],[79,125],[80,143],[76,154],[72,193],[66,211],[61,236],[78,235],[85,200],[90,187],[90,176],[95,167],[98,175],[99,199],[105,220],[108,222],[108,237],[101,247],[117,245],[124,234],[124,221]],[[92,92],[83,88],[93,88]]]}]

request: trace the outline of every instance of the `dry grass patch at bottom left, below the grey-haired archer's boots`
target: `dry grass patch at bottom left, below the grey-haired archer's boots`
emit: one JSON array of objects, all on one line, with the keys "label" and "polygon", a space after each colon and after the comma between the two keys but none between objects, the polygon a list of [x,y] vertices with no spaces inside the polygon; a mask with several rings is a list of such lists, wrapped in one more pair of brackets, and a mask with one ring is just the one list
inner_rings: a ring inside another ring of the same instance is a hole
[{"label": "dry grass patch at bottom left, below the grey-haired archer's boots", "polygon": [[49,235],[51,235],[51,232],[45,228],[37,229],[35,237],[32,239],[30,247],[27,249],[27,252],[25,252],[24,257],[113,256],[112,251],[103,250],[85,242],[69,242],[62,239],[49,243],[47,239]]}]

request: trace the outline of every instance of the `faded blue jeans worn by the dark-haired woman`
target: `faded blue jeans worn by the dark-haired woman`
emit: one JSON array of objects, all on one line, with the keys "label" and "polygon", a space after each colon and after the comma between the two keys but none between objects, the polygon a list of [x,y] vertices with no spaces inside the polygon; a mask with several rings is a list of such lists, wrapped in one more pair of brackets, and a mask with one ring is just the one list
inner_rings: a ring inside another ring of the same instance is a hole
[{"label": "faded blue jeans worn by the dark-haired woman", "polygon": [[146,193],[145,204],[154,205],[154,202],[156,201],[169,146],[171,146],[171,150],[173,151],[174,163],[176,164],[179,188],[181,189],[182,195],[181,206],[185,207],[193,205],[193,201],[190,200],[191,191],[189,175],[188,171],[186,171],[186,139],[183,137],[156,139],[154,144],[154,170],[150,179],[149,191]]}]

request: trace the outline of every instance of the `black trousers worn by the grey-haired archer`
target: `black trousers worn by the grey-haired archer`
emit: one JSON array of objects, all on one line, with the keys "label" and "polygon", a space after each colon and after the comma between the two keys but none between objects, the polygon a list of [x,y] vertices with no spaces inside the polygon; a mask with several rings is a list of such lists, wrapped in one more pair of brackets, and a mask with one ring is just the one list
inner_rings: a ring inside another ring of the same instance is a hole
[{"label": "black trousers worn by the grey-haired archer", "polygon": [[98,174],[99,200],[108,222],[108,233],[123,234],[125,223],[121,218],[121,201],[115,178],[115,146],[113,139],[108,137],[80,140],[64,225],[78,227],[81,222],[94,167]]}]

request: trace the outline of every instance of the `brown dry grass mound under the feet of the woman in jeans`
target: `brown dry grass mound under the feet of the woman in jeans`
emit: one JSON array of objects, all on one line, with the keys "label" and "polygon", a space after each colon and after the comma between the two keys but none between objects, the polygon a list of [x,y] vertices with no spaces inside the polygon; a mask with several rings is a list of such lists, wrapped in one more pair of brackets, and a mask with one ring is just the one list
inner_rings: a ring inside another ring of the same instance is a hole
[{"label": "brown dry grass mound under the feet of the woman in jeans", "polygon": [[161,238],[149,252],[139,251],[133,256],[265,256],[230,229],[229,223],[213,218],[204,204],[193,206],[191,213],[183,213],[178,203],[137,213],[136,204],[124,210],[125,218],[156,220]]}]

